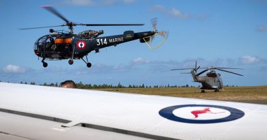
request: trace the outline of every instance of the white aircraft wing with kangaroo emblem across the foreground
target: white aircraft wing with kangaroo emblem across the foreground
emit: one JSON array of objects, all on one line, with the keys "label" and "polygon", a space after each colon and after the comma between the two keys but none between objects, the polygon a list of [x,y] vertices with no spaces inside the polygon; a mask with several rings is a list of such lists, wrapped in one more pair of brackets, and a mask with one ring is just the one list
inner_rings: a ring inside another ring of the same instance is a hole
[{"label": "white aircraft wing with kangaroo emblem across the foreground", "polygon": [[0,139],[266,139],[267,106],[0,83]]}]

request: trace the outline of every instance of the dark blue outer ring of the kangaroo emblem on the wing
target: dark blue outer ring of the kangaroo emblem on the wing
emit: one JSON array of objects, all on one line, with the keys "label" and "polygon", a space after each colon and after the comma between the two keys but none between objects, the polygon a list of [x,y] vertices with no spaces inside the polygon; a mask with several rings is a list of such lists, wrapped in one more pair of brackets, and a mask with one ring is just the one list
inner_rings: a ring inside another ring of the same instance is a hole
[{"label": "dark blue outer ring of the kangaroo emblem on the wing", "polygon": [[[173,114],[173,111],[175,109],[183,108],[183,107],[214,107],[218,109],[225,109],[229,111],[231,114],[227,117],[223,117],[220,119],[214,119],[214,120],[190,120],[185,119],[183,117],[177,117]],[[211,123],[218,123],[218,122],[229,122],[233,120],[237,120],[244,116],[244,112],[239,109],[234,109],[232,107],[224,107],[224,106],[218,106],[218,105],[208,105],[208,104],[184,104],[184,105],[176,105],[172,107],[166,107],[162,110],[160,110],[160,115],[162,117],[165,117],[168,120],[173,120],[176,122],[184,122],[184,123],[190,123],[190,124],[211,124]]]}]

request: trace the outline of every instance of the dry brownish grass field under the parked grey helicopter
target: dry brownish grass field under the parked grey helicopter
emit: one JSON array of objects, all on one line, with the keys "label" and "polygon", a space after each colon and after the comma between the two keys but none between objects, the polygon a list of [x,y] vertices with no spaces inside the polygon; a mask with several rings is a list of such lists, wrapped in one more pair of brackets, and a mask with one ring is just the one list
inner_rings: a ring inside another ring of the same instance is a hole
[{"label": "dry brownish grass field under the parked grey helicopter", "polygon": [[267,85],[224,87],[224,89],[220,90],[220,92],[207,90],[205,93],[201,93],[201,89],[199,89],[199,87],[114,88],[99,90],[133,94],[177,96],[183,98],[200,98],[207,100],[224,100],[233,102],[267,104]]}]

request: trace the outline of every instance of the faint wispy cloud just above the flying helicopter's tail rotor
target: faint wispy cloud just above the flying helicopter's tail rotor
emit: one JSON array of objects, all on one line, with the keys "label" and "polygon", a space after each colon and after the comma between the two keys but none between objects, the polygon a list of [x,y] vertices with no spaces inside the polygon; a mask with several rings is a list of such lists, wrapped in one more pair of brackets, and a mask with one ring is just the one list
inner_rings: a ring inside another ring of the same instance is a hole
[{"label": "faint wispy cloud just above the flying helicopter's tail rotor", "polygon": [[154,5],[153,8],[150,9],[151,12],[161,12],[162,14],[166,14],[169,16],[173,16],[175,18],[190,18],[190,14],[183,13],[180,10],[172,8],[171,10],[165,8],[163,5]]}]

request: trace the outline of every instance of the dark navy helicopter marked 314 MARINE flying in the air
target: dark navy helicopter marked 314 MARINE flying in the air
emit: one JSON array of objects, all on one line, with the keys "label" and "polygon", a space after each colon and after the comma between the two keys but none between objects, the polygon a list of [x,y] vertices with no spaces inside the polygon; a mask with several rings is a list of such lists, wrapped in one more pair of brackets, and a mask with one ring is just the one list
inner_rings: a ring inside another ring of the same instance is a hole
[{"label": "dark navy helicopter marked 314 MARINE flying in the air", "polygon": [[[51,27],[68,27],[69,31],[55,31],[54,29],[49,29],[48,35],[44,35],[36,40],[34,43],[34,53],[38,57],[42,57],[42,66],[46,68],[48,66],[45,60],[62,60],[69,59],[68,64],[73,64],[73,59],[82,59],[88,68],[92,66],[88,62],[88,53],[95,51],[99,53],[99,49],[105,48],[107,46],[116,46],[121,43],[140,40],[141,43],[146,43],[149,48],[151,47],[151,40],[157,35],[164,36],[162,43],[159,46],[164,44],[166,39],[166,32],[157,31],[157,20],[153,20],[154,31],[144,31],[134,33],[133,31],[124,31],[123,34],[115,36],[105,36],[99,37],[104,33],[103,30],[94,31],[86,30],[80,33],[73,33],[73,27],[75,26],[142,26],[144,24],[84,24],[84,23],[74,23],[67,20],[60,12],[56,11],[50,5],[41,6],[45,10],[48,10],[55,16],[58,16],[64,20],[64,24],[56,26],[47,26],[47,27],[30,27],[30,28],[21,28],[22,30],[26,29],[40,29],[40,28],[51,28]],[[86,60],[84,59],[86,57]]]}]

